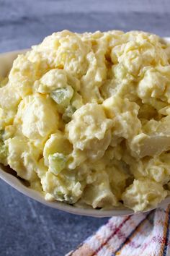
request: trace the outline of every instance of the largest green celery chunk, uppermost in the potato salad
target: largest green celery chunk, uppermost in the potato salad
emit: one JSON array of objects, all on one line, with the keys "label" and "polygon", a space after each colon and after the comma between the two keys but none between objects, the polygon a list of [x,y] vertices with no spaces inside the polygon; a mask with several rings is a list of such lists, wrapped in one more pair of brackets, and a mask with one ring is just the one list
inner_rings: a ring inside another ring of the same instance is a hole
[{"label": "largest green celery chunk, uppermost in the potato salad", "polygon": [[53,101],[58,103],[58,105],[68,106],[71,98],[73,97],[73,88],[68,86],[66,88],[58,88],[50,93],[50,97],[53,98]]}]

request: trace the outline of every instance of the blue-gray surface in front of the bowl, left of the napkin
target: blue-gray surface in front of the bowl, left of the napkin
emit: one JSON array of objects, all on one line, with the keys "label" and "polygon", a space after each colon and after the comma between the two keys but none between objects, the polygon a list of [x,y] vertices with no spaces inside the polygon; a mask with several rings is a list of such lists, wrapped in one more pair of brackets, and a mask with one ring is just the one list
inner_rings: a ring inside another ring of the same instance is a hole
[{"label": "blue-gray surface in front of the bowl, left of the napkin", "polygon": [[65,255],[106,221],[48,208],[0,181],[1,256]]}]

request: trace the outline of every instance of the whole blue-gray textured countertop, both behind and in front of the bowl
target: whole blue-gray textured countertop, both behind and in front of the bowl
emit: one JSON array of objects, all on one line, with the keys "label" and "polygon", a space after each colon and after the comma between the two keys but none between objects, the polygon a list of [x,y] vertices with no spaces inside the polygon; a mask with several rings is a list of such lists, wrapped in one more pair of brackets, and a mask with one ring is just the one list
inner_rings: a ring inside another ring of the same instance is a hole
[{"label": "whole blue-gray textured countertop, both behind and in front of the bowl", "polygon": [[[0,13],[0,52],[29,48],[63,29],[170,35],[169,0],[0,0]],[[106,221],[48,208],[0,181],[1,256],[65,255]]]}]

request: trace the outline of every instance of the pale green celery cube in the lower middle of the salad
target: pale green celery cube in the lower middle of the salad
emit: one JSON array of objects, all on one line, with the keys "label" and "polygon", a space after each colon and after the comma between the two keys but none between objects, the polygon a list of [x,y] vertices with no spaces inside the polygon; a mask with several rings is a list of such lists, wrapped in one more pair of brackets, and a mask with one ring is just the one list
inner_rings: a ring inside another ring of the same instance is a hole
[{"label": "pale green celery cube in the lower middle of the salad", "polygon": [[49,171],[58,175],[66,167],[67,157],[62,153],[54,153],[48,156]]}]

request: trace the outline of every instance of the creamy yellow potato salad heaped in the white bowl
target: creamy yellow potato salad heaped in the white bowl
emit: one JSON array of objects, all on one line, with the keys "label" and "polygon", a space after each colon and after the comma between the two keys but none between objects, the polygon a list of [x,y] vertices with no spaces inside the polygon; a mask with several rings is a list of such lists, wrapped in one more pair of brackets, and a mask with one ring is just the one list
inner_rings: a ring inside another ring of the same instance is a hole
[{"label": "creamy yellow potato salad heaped in the white bowl", "polygon": [[0,163],[46,200],[135,212],[170,192],[170,46],[63,30],[0,82]]}]

